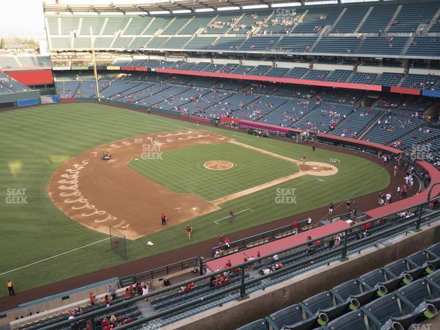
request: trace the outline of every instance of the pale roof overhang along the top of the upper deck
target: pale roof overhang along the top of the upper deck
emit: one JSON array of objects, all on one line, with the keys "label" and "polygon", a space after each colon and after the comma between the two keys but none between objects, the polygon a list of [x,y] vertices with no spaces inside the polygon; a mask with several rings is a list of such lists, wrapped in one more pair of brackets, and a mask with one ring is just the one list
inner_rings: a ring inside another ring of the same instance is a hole
[{"label": "pale roof overhang along the top of the upper deck", "polygon": [[[109,1],[110,2],[110,1]],[[145,3],[133,3],[133,4],[115,4],[109,3],[108,5],[69,5],[64,3],[45,3],[43,2],[44,12],[95,12],[109,13],[119,12],[121,14],[126,13],[145,13],[167,11],[175,12],[180,10],[198,11],[198,10],[217,10],[219,8],[239,7],[247,8],[250,6],[267,6],[272,5],[304,5],[305,3],[340,3],[340,0],[155,0]]]}]

